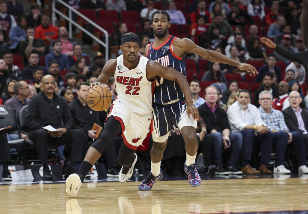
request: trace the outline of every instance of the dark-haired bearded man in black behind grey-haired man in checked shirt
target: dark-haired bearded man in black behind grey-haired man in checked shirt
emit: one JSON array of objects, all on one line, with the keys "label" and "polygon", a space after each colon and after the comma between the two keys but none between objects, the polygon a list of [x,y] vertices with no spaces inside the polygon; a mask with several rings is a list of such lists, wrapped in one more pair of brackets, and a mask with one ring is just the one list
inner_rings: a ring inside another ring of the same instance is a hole
[{"label": "dark-haired bearded man in black behind grey-haired man in checked shirt", "polygon": [[261,86],[254,92],[254,105],[258,108],[259,104],[259,94],[262,91],[269,91],[273,95],[273,99],[279,96],[279,92],[276,88],[272,87],[274,74],[271,72],[267,72],[262,77]]}]

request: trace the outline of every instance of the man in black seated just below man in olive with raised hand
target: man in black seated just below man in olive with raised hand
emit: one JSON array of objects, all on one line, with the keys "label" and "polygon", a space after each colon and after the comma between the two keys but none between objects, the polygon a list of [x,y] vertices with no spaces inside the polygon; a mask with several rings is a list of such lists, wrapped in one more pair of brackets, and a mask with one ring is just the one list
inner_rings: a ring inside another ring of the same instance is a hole
[{"label": "man in black seated just below man in olive with raised hand", "polygon": [[34,74],[34,69],[40,68],[41,70],[44,71],[44,75],[48,74],[48,71],[39,65],[39,54],[36,52],[32,52],[29,55],[28,59],[29,63],[24,69],[22,70],[22,78],[23,79],[33,79],[33,74]]}]

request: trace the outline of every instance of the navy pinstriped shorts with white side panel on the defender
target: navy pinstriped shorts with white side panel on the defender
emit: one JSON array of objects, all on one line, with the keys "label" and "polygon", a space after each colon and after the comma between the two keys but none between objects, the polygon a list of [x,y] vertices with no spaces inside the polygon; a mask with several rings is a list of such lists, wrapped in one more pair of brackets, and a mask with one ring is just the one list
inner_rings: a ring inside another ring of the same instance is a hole
[{"label": "navy pinstriped shorts with white side panel on the defender", "polygon": [[188,119],[186,101],[180,100],[172,104],[153,103],[152,138],[153,141],[164,143],[173,129],[173,124],[180,129],[184,126],[197,127],[197,120],[192,115]]}]

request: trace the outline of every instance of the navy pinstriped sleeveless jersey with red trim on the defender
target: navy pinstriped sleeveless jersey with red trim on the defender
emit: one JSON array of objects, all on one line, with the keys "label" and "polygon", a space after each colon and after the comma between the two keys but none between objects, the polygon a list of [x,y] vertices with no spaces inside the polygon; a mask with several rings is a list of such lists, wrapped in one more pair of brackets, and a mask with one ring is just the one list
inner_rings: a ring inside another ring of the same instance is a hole
[{"label": "navy pinstriped sleeveless jersey with red trim on the defender", "polygon": [[[178,57],[172,51],[172,44],[176,38],[175,36],[169,36],[158,48],[153,46],[154,42],[152,42],[148,47],[147,57],[163,66],[172,67],[180,71],[186,77],[185,57]],[[184,93],[180,86],[174,81],[156,76],[153,102],[164,104],[176,99],[184,99]]]}]

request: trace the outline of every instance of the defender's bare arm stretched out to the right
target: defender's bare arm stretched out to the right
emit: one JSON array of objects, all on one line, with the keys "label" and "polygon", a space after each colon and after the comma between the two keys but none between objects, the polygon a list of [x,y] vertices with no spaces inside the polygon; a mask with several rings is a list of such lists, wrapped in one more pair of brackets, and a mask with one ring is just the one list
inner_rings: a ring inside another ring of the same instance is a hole
[{"label": "defender's bare arm stretched out to the right", "polygon": [[241,70],[247,71],[248,73],[250,73],[250,75],[253,74],[255,76],[256,74],[258,74],[256,68],[252,65],[237,62],[221,53],[218,53],[217,51],[206,50],[202,47],[197,46],[192,40],[188,38],[176,39],[173,44],[173,49],[180,48],[180,52],[182,53],[189,52],[202,56],[211,62],[233,65]]}]

